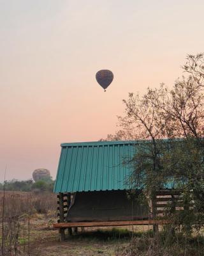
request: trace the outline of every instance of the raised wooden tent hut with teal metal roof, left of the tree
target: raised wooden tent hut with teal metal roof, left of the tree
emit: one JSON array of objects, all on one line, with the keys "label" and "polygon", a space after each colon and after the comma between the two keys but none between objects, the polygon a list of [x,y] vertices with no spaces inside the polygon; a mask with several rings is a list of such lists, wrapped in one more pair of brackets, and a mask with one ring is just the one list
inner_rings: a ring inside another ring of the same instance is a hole
[{"label": "raised wooden tent hut with teal metal roof, left of the tree", "polygon": [[[133,166],[129,159],[134,156],[138,143],[61,144],[54,186],[59,198],[59,221],[54,227],[60,229],[61,240],[64,240],[65,228],[71,232],[71,227],[153,223],[149,205],[138,201],[140,190],[131,183]],[[132,189],[135,189],[134,196]]]}]

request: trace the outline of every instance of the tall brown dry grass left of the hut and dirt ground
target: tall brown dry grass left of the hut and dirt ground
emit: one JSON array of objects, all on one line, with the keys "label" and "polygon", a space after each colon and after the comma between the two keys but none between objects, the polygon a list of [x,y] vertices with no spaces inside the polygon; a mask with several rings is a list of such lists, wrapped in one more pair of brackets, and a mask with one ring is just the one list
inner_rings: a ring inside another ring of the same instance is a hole
[{"label": "tall brown dry grass left of the hut and dirt ground", "polygon": [[[37,237],[33,237],[33,220],[44,214],[56,216],[55,195],[6,191],[0,193],[0,255],[34,255]],[[4,212],[4,218],[3,217]],[[39,215],[39,216],[38,216]]]}]

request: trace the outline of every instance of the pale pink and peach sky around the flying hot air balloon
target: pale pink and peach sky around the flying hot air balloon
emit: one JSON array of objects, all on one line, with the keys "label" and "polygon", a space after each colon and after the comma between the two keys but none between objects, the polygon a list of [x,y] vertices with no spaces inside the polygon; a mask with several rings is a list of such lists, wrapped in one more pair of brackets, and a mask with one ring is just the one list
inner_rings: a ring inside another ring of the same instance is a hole
[{"label": "pale pink and peach sky around the flying hot air balloon", "polygon": [[[117,130],[122,99],[203,52],[204,1],[0,0],[0,181],[55,179],[61,143]],[[114,74],[106,92],[98,70]]]}]

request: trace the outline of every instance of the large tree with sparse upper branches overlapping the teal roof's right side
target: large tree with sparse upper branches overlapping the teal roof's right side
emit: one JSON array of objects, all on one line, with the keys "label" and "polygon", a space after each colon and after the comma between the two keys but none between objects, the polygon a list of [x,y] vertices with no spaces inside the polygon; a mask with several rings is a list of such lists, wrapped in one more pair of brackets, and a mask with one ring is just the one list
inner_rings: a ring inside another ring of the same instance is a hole
[{"label": "large tree with sparse upper branches overlapping the teal roof's right side", "polygon": [[134,166],[131,182],[137,188],[153,198],[157,189],[171,184],[182,189],[186,205],[194,202],[193,209],[186,207],[178,216],[188,231],[195,220],[201,223],[204,209],[203,63],[203,54],[188,55],[184,76],[171,90],[161,84],[142,96],[129,93],[117,132],[120,138],[142,140],[133,159],[127,159]]}]

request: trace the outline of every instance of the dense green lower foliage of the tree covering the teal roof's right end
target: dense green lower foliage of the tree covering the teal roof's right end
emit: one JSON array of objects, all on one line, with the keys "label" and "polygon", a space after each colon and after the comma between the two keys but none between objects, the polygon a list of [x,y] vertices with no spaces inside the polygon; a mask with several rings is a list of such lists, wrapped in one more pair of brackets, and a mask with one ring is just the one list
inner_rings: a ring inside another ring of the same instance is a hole
[{"label": "dense green lower foliage of the tree covering the teal roof's right end", "polygon": [[135,182],[136,188],[152,197],[159,189],[182,191],[184,209],[176,211],[173,205],[167,205],[166,217],[190,234],[193,228],[200,229],[204,221],[204,141],[183,138],[155,142],[141,143],[131,160],[135,166],[131,184]]}]

